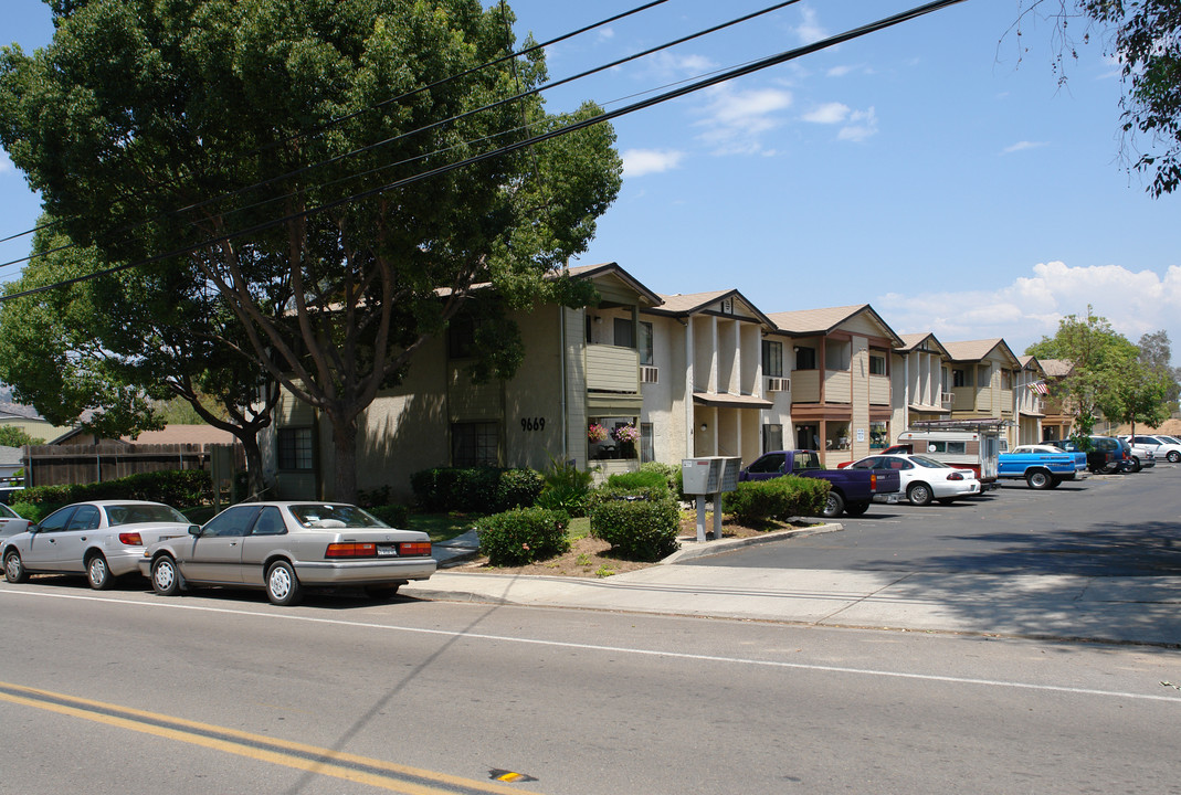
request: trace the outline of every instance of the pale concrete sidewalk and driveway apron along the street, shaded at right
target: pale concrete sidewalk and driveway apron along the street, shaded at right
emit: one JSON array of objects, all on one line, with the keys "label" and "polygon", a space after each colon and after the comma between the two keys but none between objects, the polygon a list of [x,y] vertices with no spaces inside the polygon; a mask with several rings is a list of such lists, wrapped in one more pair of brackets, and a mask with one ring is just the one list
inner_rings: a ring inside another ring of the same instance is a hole
[{"label": "pale concrete sidewalk and driveway apron along the street, shaded at right", "polygon": [[[809,528],[841,530],[840,525]],[[809,532],[804,531],[804,532]],[[666,560],[800,531],[681,543]],[[400,593],[418,599],[578,607],[935,632],[1181,645],[1181,577],[941,574],[657,565],[605,579],[464,572],[475,533],[436,545],[441,571]]]}]

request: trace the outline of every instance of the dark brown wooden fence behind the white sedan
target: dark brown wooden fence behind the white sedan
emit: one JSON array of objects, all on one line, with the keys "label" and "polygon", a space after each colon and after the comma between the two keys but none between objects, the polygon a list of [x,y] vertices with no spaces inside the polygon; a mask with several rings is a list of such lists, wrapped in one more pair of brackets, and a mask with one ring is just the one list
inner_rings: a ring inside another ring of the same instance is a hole
[{"label": "dark brown wooden fence behind the white sedan", "polygon": [[[209,469],[213,452],[226,445],[37,445],[25,448],[25,486],[93,484],[141,472]],[[240,445],[234,461],[244,468]]]}]

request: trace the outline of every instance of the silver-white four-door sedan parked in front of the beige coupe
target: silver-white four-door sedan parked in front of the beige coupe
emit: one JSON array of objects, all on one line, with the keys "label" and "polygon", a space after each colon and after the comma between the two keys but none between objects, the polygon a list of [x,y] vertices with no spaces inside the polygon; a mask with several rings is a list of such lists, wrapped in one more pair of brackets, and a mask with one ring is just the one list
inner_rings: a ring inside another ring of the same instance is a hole
[{"label": "silver-white four-door sedan parked in front of the beige coupe", "polygon": [[4,573],[9,583],[21,583],[30,573],[85,573],[92,589],[107,589],[116,578],[139,571],[148,545],[187,534],[191,526],[183,513],[162,502],[76,502],[4,539]]}]

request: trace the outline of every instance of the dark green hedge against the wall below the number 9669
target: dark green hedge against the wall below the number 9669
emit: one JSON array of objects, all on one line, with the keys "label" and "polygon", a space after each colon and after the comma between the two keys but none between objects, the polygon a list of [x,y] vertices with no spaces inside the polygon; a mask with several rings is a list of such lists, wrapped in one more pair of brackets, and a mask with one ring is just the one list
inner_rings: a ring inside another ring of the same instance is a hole
[{"label": "dark green hedge against the wall below the number 9669", "polygon": [[436,467],[410,475],[418,507],[430,512],[495,513],[530,507],[542,486],[541,473],[533,469]]}]

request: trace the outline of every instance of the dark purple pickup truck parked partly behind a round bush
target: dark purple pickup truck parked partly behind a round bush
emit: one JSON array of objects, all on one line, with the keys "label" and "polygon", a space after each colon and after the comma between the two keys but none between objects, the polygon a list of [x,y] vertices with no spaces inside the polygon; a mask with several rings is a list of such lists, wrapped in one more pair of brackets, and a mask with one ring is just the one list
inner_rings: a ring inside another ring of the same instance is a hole
[{"label": "dark purple pickup truck parked partly behind a round bush", "polygon": [[814,449],[763,453],[738,473],[738,481],[769,480],[782,475],[827,480],[830,488],[822,513],[828,519],[842,513],[860,517],[876,494],[883,494],[887,501],[896,502],[902,487],[898,472],[893,469],[826,469],[821,466],[820,453]]}]

